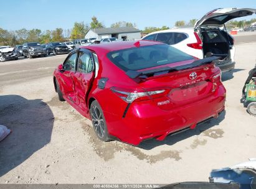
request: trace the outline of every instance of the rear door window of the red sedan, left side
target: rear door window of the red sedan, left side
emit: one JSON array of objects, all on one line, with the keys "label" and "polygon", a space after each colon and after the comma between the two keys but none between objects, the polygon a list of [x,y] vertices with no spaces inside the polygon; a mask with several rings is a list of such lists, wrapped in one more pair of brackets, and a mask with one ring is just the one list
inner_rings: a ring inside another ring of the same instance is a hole
[{"label": "rear door window of the red sedan, left side", "polygon": [[80,73],[90,73],[93,71],[93,60],[90,55],[84,52],[79,53],[77,61],[77,71]]}]

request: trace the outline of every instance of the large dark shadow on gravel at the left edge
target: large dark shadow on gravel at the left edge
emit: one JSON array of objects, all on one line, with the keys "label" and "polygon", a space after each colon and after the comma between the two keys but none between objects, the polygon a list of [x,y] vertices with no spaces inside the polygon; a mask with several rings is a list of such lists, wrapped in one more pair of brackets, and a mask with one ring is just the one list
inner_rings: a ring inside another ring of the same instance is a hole
[{"label": "large dark shadow on gravel at the left edge", "polygon": [[6,95],[0,96],[0,124],[12,131],[0,142],[1,177],[49,144],[54,115],[41,99]]}]

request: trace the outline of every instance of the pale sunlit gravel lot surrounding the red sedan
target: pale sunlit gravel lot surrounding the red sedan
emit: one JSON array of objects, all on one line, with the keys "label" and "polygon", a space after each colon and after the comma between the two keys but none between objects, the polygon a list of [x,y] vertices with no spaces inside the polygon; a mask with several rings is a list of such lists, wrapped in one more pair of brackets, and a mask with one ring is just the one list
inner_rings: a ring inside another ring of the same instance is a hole
[{"label": "pale sunlit gravel lot surrounding the red sedan", "polygon": [[213,168],[256,157],[256,118],[239,103],[256,63],[256,42],[245,40],[236,43],[235,70],[222,75],[225,113],[139,147],[98,141],[90,121],[58,101],[52,72],[66,55],[0,63],[0,124],[12,129],[0,143],[0,183],[207,181]]}]

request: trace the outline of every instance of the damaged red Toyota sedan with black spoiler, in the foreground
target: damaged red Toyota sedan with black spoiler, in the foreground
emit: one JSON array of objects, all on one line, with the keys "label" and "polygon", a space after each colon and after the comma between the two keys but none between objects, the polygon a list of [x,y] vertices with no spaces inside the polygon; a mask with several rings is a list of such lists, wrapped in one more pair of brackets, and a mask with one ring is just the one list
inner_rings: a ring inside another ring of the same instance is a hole
[{"label": "damaged red Toyota sedan with black spoiler, in the foreground", "polygon": [[221,73],[159,42],[114,42],[73,51],[54,71],[61,101],[92,120],[102,141],[133,145],[196,127],[225,107]]}]

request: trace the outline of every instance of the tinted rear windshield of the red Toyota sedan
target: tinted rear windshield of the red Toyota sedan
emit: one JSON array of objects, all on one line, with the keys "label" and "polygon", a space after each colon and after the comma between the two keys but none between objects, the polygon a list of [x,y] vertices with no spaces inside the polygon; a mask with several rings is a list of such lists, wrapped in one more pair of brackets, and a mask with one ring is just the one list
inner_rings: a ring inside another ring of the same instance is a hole
[{"label": "tinted rear windshield of the red Toyota sedan", "polygon": [[126,48],[108,53],[108,58],[122,70],[143,70],[194,58],[166,44]]}]

